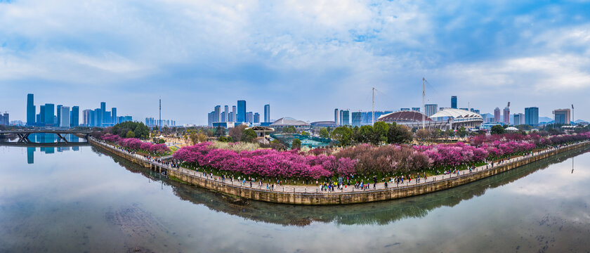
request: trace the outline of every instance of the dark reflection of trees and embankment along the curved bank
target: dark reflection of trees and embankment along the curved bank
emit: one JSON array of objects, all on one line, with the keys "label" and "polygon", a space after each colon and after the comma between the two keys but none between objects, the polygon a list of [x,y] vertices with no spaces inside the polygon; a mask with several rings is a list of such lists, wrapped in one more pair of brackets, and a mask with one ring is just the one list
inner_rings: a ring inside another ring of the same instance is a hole
[{"label": "dark reflection of trees and embankment along the curved bank", "polygon": [[[283,226],[307,226],[313,221],[331,222],[338,224],[371,224],[385,225],[400,219],[421,218],[438,207],[454,207],[462,200],[469,200],[481,196],[487,189],[504,186],[523,178],[529,174],[545,169],[551,164],[588,152],[590,149],[571,150],[518,169],[512,169],[496,176],[490,176],[464,186],[441,190],[416,197],[399,200],[371,202],[353,205],[334,206],[303,206],[284,205],[214,193],[203,188],[188,186],[185,183],[165,179],[154,171],[140,167],[117,156],[113,160],[133,173],[140,173],[154,181],[162,180],[164,185],[172,186],[174,194],[195,204],[204,205],[216,212],[236,215],[252,221],[281,224]],[[93,151],[99,152],[93,148]],[[100,150],[100,153],[105,153]],[[160,179],[161,178],[161,179]]]}]

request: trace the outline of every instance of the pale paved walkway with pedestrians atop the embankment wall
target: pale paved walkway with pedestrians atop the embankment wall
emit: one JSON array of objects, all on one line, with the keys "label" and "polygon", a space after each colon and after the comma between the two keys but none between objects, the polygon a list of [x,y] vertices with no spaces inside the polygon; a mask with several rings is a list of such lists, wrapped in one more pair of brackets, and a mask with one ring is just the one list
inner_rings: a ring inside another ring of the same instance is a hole
[{"label": "pale paved walkway with pedestrians atop the embankment wall", "polygon": [[[126,152],[125,150],[121,150],[113,145],[107,144],[107,143],[103,143],[103,142],[98,142],[101,145],[105,145],[108,148],[112,148],[115,150],[119,150],[121,152]],[[560,148],[566,148],[569,147],[571,145],[563,145]],[[511,162],[517,162],[520,160],[523,160],[527,157],[533,157],[533,156],[537,156],[537,155],[541,155],[544,153],[547,153],[551,150],[556,150],[556,149],[560,149],[560,148],[549,148],[546,150],[541,150],[537,153],[532,153],[530,155],[526,155],[526,156],[520,156],[520,157],[514,157],[512,159],[506,159],[504,160],[504,162],[494,162],[494,167],[492,167],[491,163],[490,164],[486,164],[480,167],[476,167],[476,169],[473,169],[473,171],[471,171],[471,174],[473,173],[478,173],[480,171],[484,171],[486,169],[492,169],[495,167],[498,167],[499,165],[504,165],[504,164],[509,164]],[[225,181],[223,181],[223,179],[221,179],[221,176],[211,176],[210,174],[203,174],[202,171],[195,171],[192,169],[186,169],[186,168],[173,168],[173,167],[169,167],[167,164],[163,164],[160,162],[157,162],[155,160],[150,160],[150,159],[146,159],[145,157],[143,157],[142,155],[137,155],[137,154],[131,154],[131,153],[127,153],[128,155],[134,155],[136,157],[138,157],[140,160],[144,160],[145,162],[149,162],[151,164],[155,164],[159,167],[164,167],[166,169],[169,170],[175,170],[175,171],[179,171],[182,174],[187,174],[190,176],[194,176],[197,178],[202,178],[202,179],[206,179],[209,181],[216,181],[218,183],[225,183],[227,185],[232,185],[232,186],[237,186],[237,187],[242,187],[242,188],[254,188],[257,190],[264,190],[264,191],[270,191],[266,189],[266,183],[263,183],[262,186],[259,185],[258,181],[256,182],[252,182],[252,187],[250,187],[250,183],[249,181],[246,181],[245,184],[242,184],[242,180],[240,179],[240,181],[237,181],[237,179],[235,179],[234,181],[231,181],[230,179],[225,179]],[[419,184],[425,184],[425,183],[433,183],[435,181],[441,181],[441,180],[448,180],[448,179],[454,179],[458,176],[463,176],[466,174],[470,174],[469,169],[464,169],[459,171],[459,174],[440,174],[440,175],[436,175],[436,176],[428,176],[427,179],[425,180],[424,178],[420,179],[420,182],[418,182],[415,179],[412,179],[412,181],[407,181],[404,180],[403,183],[400,183],[399,185],[396,183],[390,183],[388,182],[388,188],[385,188],[385,184],[384,183],[376,183],[375,188],[373,188],[373,183],[370,184],[369,189],[367,190],[362,190],[362,189],[355,189],[354,188],[354,183],[351,180],[350,181],[350,186],[346,186],[346,188],[342,188],[340,190],[334,190],[333,192],[327,192],[327,191],[322,191],[320,190],[319,186],[315,186],[315,182],[313,185],[308,185],[308,186],[292,186],[292,185],[282,185],[279,186],[277,183],[275,183],[275,192],[285,192],[285,193],[322,193],[322,194],[333,194],[333,193],[353,193],[353,192],[366,192],[366,191],[372,191],[372,190],[384,190],[384,189],[395,189],[395,188],[402,188],[402,187],[409,187],[409,186],[417,186]],[[353,179],[354,181],[356,181],[356,179]],[[372,181],[373,179],[364,179],[363,181],[365,181],[365,183]]]}]

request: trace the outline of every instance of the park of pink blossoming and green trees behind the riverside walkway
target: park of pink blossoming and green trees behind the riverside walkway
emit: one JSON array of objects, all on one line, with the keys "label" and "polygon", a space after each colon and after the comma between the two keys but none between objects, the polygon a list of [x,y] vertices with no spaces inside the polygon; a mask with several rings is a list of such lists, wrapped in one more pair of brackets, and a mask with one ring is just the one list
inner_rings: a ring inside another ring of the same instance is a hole
[{"label": "park of pink blossoming and green trees behind the riverside walkway", "polygon": [[[585,128],[570,133],[556,130],[503,133],[503,129],[492,129],[492,134],[467,134],[461,129],[457,130],[463,137],[461,141],[448,142],[448,136],[424,137],[435,136],[435,130],[412,132],[395,123],[376,122],[373,126],[320,129],[320,136],[331,138],[333,145],[301,148],[293,141],[289,149],[276,139],[263,144],[264,141],[245,126],[230,129],[227,136],[225,131],[219,133],[219,129],[214,129],[218,137],[211,136],[211,129],[204,130],[209,134],[202,129],[183,130],[180,138],[178,132],[171,135],[185,140],[185,145],[172,148],[162,138],[166,129],[152,133],[140,122],[96,129],[92,136],[146,156],[171,156],[180,167],[218,176],[224,181],[259,183],[259,186],[323,183],[338,187],[393,182],[393,179],[411,182],[590,140],[590,131]],[[309,135],[296,129],[282,131]],[[157,138],[150,139],[157,134],[160,134]]]}]

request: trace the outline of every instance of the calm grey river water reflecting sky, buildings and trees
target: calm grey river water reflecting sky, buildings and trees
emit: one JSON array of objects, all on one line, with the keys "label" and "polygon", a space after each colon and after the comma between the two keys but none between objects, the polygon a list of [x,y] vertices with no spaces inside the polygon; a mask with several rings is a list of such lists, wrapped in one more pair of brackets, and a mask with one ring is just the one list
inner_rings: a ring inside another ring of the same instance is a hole
[{"label": "calm grey river water reflecting sky, buildings and trees", "polygon": [[402,200],[235,200],[95,148],[0,146],[0,252],[589,252],[590,153]]}]

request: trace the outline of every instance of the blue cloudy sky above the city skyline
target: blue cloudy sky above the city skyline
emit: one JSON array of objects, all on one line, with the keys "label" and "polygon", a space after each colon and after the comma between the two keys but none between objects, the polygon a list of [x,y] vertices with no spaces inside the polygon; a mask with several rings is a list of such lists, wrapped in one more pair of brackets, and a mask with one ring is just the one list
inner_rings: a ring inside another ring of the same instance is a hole
[{"label": "blue cloudy sky above the city skyline", "polygon": [[590,1],[0,0],[0,111],[117,107],[206,124],[247,100],[271,118],[426,103],[590,119]]}]

